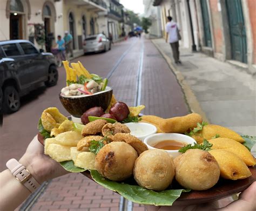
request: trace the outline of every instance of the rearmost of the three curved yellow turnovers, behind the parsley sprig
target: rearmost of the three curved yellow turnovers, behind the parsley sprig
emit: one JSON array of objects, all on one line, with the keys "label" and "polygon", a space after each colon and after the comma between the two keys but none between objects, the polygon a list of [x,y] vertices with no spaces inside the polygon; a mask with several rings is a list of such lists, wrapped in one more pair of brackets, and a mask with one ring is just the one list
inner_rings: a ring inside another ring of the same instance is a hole
[{"label": "rearmost of the three curved yellow turnovers, behind the parsley sprig", "polygon": [[205,125],[201,134],[207,140],[212,139],[216,134],[218,134],[219,138],[233,139],[240,143],[245,141],[238,133],[219,125]]}]

